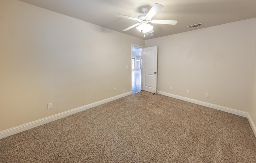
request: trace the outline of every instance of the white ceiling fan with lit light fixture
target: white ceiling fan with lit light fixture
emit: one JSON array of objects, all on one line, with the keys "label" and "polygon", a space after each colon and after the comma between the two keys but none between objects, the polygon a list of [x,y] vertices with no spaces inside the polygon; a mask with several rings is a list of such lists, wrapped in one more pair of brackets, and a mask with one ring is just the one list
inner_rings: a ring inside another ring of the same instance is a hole
[{"label": "white ceiling fan with lit light fixture", "polygon": [[[144,37],[145,37],[145,33],[153,33],[153,26],[151,26],[148,23],[152,23],[152,24],[169,24],[169,25],[175,25],[178,23],[177,20],[152,20],[152,17],[158,13],[164,6],[162,4],[157,4],[155,3],[154,6],[148,11],[148,8],[144,7],[142,8],[142,12],[143,14],[140,14],[138,16],[138,18],[133,18],[130,16],[124,16],[124,15],[120,15],[120,14],[116,14],[116,16],[120,17],[120,18],[127,18],[127,19],[132,19],[132,20],[137,20],[138,23],[124,29],[123,31],[128,31],[134,27],[137,28],[138,31],[143,32],[144,33]],[[148,12],[148,13],[147,13]]]}]

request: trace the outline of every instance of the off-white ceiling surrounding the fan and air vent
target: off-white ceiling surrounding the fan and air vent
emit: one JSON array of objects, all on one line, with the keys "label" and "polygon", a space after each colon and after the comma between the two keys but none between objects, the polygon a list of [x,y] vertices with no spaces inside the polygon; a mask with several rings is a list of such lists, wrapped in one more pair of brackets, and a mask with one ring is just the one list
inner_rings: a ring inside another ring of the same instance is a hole
[{"label": "off-white ceiling surrounding the fan and air vent", "polygon": [[[256,18],[256,0],[20,0],[60,14],[71,16],[111,30],[144,40],[197,30],[210,26]],[[176,25],[152,24],[154,36],[140,33],[136,28],[123,32],[136,24],[136,20],[116,17],[122,14],[138,18],[141,8],[149,9],[154,3],[164,6],[153,19],[178,20]],[[202,23],[203,26],[187,26]]]}]

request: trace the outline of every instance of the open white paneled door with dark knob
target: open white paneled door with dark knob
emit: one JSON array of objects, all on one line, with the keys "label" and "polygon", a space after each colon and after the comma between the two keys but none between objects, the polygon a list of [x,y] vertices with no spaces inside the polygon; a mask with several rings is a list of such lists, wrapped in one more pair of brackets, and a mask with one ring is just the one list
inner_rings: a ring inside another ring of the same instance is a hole
[{"label": "open white paneled door with dark knob", "polygon": [[157,46],[143,48],[142,53],[142,90],[156,93]]}]

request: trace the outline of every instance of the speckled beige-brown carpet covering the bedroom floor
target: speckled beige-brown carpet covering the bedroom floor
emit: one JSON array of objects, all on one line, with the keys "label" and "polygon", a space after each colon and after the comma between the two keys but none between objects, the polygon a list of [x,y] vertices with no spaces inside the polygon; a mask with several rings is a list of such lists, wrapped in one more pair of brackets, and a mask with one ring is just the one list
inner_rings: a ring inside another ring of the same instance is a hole
[{"label": "speckled beige-brown carpet covering the bedroom floor", "polygon": [[244,117],[146,91],[0,140],[1,163],[256,163]]}]

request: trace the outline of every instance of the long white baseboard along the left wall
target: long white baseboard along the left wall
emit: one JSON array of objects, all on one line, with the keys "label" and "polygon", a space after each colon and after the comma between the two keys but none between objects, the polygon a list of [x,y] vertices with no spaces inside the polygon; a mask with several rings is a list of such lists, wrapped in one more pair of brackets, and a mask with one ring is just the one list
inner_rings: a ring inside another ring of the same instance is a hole
[{"label": "long white baseboard along the left wall", "polygon": [[86,109],[90,109],[92,107],[95,107],[95,106],[98,106],[98,105],[101,105],[101,104],[104,104],[104,103],[107,103],[107,102],[110,102],[110,101],[113,101],[113,100],[116,100],[116,99],[119,99],[119,98],[122,98],[122,97],[125,97],[127,95],[131,95],[132,92],[127,92],[127,93],[124,93],[124,94],[121,94],[121,95],[117,95],[117,96],[114,96],[114,97],[110,97],[108,99],[104,99],[104,100],[101,100],[101,101],[97,101],[97,102],[94,102],[94,103],[90,103],[88,105],[84,105],[84,106],[81,106],[81,107],[77,107],[75,109],[71,109],[71,110],[68,110],[68,111],[64,111],[62,113],[58,113],[58,114],[55,114],[55,115],[52,115],[52,116],[49,116],[49,117],[45,117],[45,118],[42,118],[42,119],[38,119],[36,121],[32,121],[32,122],[29,122],[29,123],[25,123],[23,125],[19,125],[19,126],[16,126],[16,127],[12,127],[10,129],[6,129],[4,131],[1,131],[0,132],[0,139],[4,138],[4,137],[8,137],[10,135],[14,135],[16,133],[20,133],[22,131],[26,131],[28,129],[32,129],[34,127],[37,127],[37,126],[40,126],[40,125],[43,125],[43,124],[46,124],[46,123],[49,123],[51,121],[55,121],[57,119],[60,119],[60,118],[63,118],[63,117],[66,117],[66,116],[69,116],[69,115],[72,115],[74,113],[78,113],[80,111],[84,111]]}]

